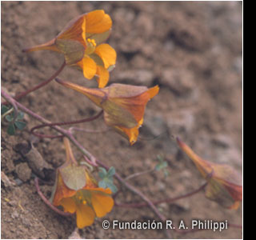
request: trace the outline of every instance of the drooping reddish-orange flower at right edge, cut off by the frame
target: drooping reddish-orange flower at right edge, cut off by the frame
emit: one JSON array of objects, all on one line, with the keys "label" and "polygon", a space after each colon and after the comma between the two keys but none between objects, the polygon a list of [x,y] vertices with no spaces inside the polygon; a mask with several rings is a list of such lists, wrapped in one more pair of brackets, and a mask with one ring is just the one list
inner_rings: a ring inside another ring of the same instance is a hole
[{"label": "drooping reddish-orange flower at right edge, cut off by the frame", "polygon": [[229,165],[217,164],[200,158],[179,138],[177,142],[208,182],[206,198],[218,202],[223,207],[238,209],[242,202],[241,176]]}]

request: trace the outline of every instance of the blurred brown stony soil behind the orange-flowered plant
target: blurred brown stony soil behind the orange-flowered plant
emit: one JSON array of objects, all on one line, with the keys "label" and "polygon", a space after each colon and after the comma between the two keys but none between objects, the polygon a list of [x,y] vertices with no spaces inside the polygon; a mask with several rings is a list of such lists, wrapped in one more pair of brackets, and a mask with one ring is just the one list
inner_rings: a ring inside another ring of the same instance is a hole
[{"label": "blurred brown stony soil behind the orange-flowered plant", "polygon": [[[141,139],[134,146],[113,131],[77,133],[76,137],[122,177],[151,169],[157,163],[157,155],[164,156],[169,163],[168,177],[154,172],[130,181],[148,197],[172,198],[203,183],[172,134],[182,138],[202,158],[230,164],[242,173],[241,2],[1,2],[1,6],[1,82],[10,94],[49,78],[62,64],[59,54],[22,54],[22,48],[54,38],[78,14],[96,9],[110,14],[113,31],[108,42],[118,53],[110,83],[158,84],[161,89],[147,105]],[[97,86],[96,81],[87,81],[81,72],[69,67],[60,77],[84,86]],[[98,112],[82,94],[56,82],[21,102],[52,122],[86,118]],[[29,130],[39,124],[27,115],[26,122],[26,130],[16,136],[7,135],[6,126],[2,125],[2,238],[69,238],[75,228],[74,219],[59,216],[42,202],[34,187],[36,173],[17,150],[18,144],[30,141]],[[105,128],[102,119],[79,126]],[[59,139],[38,140],[34,146],[52,168],[65,159]],[[82,157],[75,148],[74,153],[78,159]],[[50,190],[51,186],[42,186],[48,198]],[[141,200],[122,189],[117,201]],[[241,208],[222,209],[203,193],[158,208],[175,224],[181,219],[187,225],[191,219],[242,224]],[[79,230],[81,238],[166,238],[163,230],[103,230],[103,219],[158,221],[147,207],[114,207],[93,226]],[[172,234],[174,238],[242,238],[242,230],[238,229]]]}]

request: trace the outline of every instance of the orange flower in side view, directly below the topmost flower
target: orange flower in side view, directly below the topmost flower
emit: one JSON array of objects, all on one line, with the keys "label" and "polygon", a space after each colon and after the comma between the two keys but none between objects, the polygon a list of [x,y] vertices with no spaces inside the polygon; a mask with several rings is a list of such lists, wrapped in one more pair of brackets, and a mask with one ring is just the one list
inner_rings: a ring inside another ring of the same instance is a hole
[{"label": "orange flower in side view, directly below the topmost flower", "polygon": [[63,86],[85,94],[92,102],[104,110],[104,120],[108,126],[129,139],[133,145],[138,138],[138,128],[142,126],[146,103],[158,94],[159,87],[111,84],[102,89],[89,89],[71,82],[56,79]]}]

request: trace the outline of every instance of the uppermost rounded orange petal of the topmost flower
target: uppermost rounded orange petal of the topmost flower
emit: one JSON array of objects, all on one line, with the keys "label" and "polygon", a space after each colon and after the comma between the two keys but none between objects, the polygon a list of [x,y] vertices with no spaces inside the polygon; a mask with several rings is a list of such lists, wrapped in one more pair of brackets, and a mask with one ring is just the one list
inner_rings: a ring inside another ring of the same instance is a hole
[{"label": "uppermost rounded orange petal of the topmost flower", "polygon": [[110,30],[112,20],[104,10],[94,10],[86,14],[86,33],[100,34]]}]

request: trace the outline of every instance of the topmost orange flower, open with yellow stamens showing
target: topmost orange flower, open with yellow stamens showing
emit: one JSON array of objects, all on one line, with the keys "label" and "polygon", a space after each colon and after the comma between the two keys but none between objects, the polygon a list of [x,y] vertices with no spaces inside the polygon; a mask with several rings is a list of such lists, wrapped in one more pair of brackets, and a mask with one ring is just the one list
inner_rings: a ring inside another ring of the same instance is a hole
[{"label": "topmost orange flower, open with yellow stamens showing", "polygon": [[64,54],[67,65],[81,68],[87,79],[98,76],[98,87],[104,87],[117,58],[114,48],[102,43],[109,37],[111,26],[112,20],[104,10],[94,10],[70,21],[50,42],[24,51],[54,50]]}]

